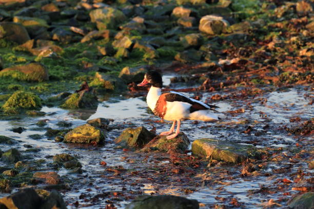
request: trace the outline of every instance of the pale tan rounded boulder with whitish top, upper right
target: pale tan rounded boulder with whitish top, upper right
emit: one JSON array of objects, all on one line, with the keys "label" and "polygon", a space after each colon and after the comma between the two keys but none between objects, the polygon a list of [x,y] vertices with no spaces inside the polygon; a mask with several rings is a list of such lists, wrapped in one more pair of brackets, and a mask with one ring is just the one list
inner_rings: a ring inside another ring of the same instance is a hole
[{"label": "pale tan rounded boulder with whitish top, upper right", "polygon": [[209,35],[221,34],[228,22],[221,16],[206,15],[200,20],[199,30]]}]

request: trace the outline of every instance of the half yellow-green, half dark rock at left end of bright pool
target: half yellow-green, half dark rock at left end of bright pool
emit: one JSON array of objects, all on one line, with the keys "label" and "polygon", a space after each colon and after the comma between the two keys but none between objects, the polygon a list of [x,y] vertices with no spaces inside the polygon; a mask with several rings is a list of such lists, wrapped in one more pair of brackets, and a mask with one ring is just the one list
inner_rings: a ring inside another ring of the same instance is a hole
[{"label": "half yellow-green, half dark rock at left end of bright pool", "polygon": [[77,109],[77,108],[97,108],[98,99],[92,91],[83,90],[71,94],[66,101],[62,103],[61,108]]}]

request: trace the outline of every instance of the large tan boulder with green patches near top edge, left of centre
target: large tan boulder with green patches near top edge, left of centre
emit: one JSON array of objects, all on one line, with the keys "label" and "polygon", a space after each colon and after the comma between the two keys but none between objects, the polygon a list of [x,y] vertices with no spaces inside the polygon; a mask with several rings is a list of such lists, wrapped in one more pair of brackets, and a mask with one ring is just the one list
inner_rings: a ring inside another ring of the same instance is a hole
[{"label": "large tan boulder with green patches near top edge, left of centre", "polygon": [[89,16],[91,22],[96,23],[99,30],[116,29],[119,24],[127,19],[122,11],[112,7],[94,9],[89,13]]}]

